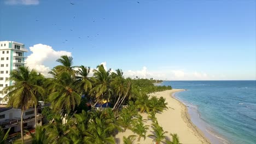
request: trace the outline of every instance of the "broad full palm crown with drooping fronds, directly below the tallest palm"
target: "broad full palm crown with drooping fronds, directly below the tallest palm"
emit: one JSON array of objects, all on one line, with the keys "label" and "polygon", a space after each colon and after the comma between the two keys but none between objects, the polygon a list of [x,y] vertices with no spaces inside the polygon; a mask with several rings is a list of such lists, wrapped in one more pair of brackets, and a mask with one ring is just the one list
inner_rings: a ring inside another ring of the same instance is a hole
[{"label": "broad full palm crown with drooping fronds, directly below the tallest palm", "polygon": [[71,110],[74,110],[75,105],[80,104],[81,97],[75,92],[76,87],[73,82],[72,75],[63,71],[59,79],[56,79],[51,85],[49,100],[55,112],[63,110],[68,114]]}]

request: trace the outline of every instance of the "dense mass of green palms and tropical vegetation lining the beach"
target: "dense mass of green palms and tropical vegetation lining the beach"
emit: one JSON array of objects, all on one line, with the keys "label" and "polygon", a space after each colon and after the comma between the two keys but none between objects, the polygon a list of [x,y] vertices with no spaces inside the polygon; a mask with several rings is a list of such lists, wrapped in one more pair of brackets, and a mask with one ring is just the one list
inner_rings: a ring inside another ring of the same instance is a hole
[{"label": "dense mass of green palms and tropical vegetation lining the beach", "polygon": [[[49,71],[52,77],[48,78],[28,67],[11,71],[9,81],[15,85],[4,90],[9,105],[21,109],[21,123],[28,108],[36,111],[38,100],[50,104],[42,110],[49,123],[36,128],[32,143],[115,143],[114,135],[126,129],[137,134],[139,141],[146,138],[149,125],[138,111],[155,117],[167,109],[164,98],[148,94],[172,89],[170,86],[154,86],[153,79],[125,78],[121,69],[107,70],[103,65],[96,69],[74,66],[68,56],[57,62],[60,65]],[[109,108],[94,109],[103,103]],[[22,143],[23,131],[21,124]],[[130,136],[124,141],[132,143],[134,139]]]}]

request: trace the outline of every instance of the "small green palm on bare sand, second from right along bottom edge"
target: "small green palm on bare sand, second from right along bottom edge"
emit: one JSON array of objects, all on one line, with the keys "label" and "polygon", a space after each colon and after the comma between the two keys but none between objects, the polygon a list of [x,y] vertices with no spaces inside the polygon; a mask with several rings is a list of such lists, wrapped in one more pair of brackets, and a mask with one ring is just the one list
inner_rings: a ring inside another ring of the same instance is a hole
[{"label": "small green palm on bare sand, second from right along bottom edge", "polygon": [[165,139],[165,134],[168,132],[164,131],[162,127],[160,127],[158,121],[155,121],[155,123],[152,124],[152,128],[154,130],[154,135],[148,135],[148,137],[153,137],[157,143],[160,143],[162,140]]}]

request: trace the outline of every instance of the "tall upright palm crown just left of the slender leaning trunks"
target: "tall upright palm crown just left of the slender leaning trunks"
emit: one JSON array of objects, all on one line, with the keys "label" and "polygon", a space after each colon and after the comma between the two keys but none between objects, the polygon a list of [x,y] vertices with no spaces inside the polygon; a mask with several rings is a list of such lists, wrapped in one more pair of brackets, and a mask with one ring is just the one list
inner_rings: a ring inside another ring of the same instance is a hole
[{"label": "tall upright palm crown just left of the slender leaning trunks", "polygon": [[90,95],[95,96],[97,101],[109,101],[112,94],[112,89],[110,88],[110,69],[106,71],[102,64],[98,65],[97,69],[94,69],[94,77],[96,79],[96,86],[91,89]]}]

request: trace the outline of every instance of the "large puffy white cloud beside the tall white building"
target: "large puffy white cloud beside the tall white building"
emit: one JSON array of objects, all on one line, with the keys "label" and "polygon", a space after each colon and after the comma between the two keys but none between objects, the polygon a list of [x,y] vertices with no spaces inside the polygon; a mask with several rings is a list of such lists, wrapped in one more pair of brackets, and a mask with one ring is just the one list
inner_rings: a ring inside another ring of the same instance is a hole
[{"label": "large puffy white cloud beside the tall white building", "polygon": [[71,52],[67,51],[55,51],[53,47],[49,45],[37,44],[30,47],[32,52],[26,59],[26,66],[31,69],[36,69],[39,73],[45,77],[50,77],[48,72],[57,64],[56,59],[63,55],[71,56]]}]

